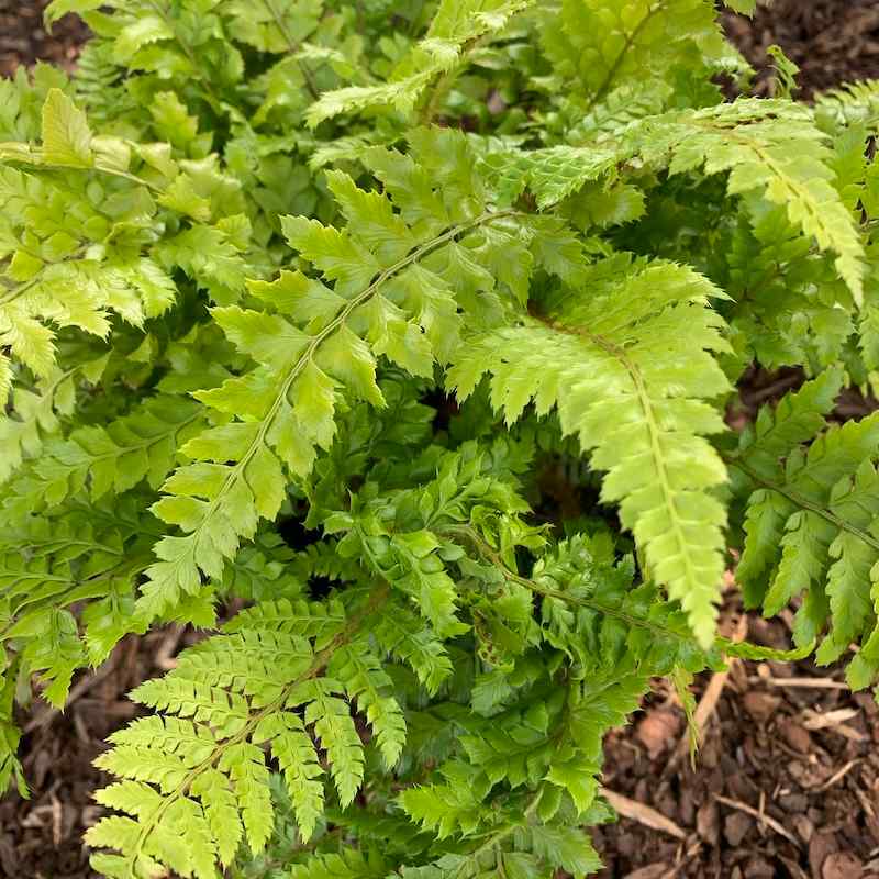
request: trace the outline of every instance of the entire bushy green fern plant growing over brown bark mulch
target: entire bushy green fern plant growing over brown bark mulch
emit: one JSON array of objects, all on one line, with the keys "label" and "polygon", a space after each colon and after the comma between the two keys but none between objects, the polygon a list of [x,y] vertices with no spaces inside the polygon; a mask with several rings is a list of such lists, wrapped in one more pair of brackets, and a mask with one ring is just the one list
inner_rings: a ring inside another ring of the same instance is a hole
[{"label": "entire bushy green fern plant growing over brown bark mulch", "polygon": [[[879,88],[724,100],[715,5],[49,4],[94,36],[0,82],[0,788],[33,697],[205,630],[96,870],[582,877],[653,678],[877,683]],[[736,432],[754,364],[803,383]],[[736,559],[790,652],[717,634]]]}]

